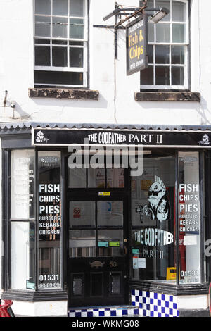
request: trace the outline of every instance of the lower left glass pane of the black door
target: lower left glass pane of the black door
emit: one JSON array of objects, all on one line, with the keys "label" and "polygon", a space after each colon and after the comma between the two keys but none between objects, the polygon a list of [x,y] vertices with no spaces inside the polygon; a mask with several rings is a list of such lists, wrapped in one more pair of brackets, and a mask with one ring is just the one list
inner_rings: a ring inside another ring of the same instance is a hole
[{"label": "lower left glass pane of the black door", "polygon": [[96,256],[95,230],[70,230],[69,232],[69,257],[94,257]]}]

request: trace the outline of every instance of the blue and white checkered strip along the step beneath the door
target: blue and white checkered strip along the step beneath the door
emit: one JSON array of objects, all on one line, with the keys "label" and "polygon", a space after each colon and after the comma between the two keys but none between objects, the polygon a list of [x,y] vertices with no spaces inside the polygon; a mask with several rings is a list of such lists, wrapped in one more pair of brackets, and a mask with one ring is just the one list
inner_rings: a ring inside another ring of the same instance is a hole
[{"label": "blue and white checkered strip along the step beneath the door", "polygon": [[[134,306],[134,305],[133,305]],[[68,317],[112,317],[112,316],[138,316],[139,308],[76,308],[68,311]]]}]

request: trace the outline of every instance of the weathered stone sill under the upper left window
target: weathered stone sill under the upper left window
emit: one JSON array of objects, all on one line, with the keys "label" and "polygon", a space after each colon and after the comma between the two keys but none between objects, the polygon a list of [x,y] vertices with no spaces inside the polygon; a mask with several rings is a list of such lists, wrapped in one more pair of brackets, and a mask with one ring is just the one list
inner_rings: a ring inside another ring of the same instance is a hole
[{"label": "weathered stone sill under the upper left window", "polygon": [[91,89],[29,89],[30,98],[98,100],[99,92]]}]

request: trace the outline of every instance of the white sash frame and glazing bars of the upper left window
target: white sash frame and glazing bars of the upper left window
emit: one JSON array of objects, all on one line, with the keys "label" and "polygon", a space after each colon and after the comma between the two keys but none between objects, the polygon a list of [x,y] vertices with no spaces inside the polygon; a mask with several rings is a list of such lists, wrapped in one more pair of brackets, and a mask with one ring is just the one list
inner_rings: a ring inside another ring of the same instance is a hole
[{"label": "white sash frame and glazing bars of the upper left window", "polygon": [[[35,13],[35,1],[34,0],[34,70],[36,71],[59,71],[59,72],[73,72],[73,73],[83,73],[83,85],[60,85],[60,84],[48,84],[48,83],[34,83],[34,86],[36,85],[42,85],[42,86],[60,86],[60,87],[87,87],[87,44],[88,44],[88,10],[87,10],[87,0],[84,0],[84,17],[81,16],[71,16],[70,15],[70,1],[68,1],[68,15],[62,16],[62,15],[53,15],[53,0],[51,1],[51,15],[42,15],[42,14],[36,14]],[[39,37],[35,35],[35,17],[36,16],[43,16],[43,17],[49,17],[51,21],[51,37]],[[67,38],[61,38],[61,37],[53,37],[53,18],[67,18],[68,20],[68,37]],[[84,20],[84,38],[83,39],[76,39],[76,38],[70,38],[70,18],[74,19],[82,19]],[[44,39],[49,40],[50,44],[36,44],[35,39]],[[53,40],[60,40],[60,41],[66,41],[67,45],[60,45],[60,44],[53,44]],[[75,46],[70,45],[70,42],[83,42],[83,46]],[[35,46],[49,46],[50,47],[50,61],[51,65],[44,66],[44,65],[35,65]],[[67,67],[58,67],[52,65],[52,48],[53,47],[65,47],[68,49],[68,65]],[[70,67],[70,47],[71,48],[83,48],[83,67]]]}]

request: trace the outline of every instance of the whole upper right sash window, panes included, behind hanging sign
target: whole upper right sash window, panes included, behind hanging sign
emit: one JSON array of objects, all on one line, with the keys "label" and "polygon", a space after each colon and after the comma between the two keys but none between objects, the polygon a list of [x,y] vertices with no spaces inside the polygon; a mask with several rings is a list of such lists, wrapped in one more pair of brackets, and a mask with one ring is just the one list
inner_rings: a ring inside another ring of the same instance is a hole
[{"label": "whole upper right sash window, panes included, behind hanging sign", "polygon": [[148,8],[161,7],[170,13],[157,24],[148,22],[148,68],[141,71],[141,90],[188,89],[188,0],[148,0]]}]

